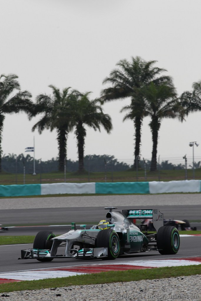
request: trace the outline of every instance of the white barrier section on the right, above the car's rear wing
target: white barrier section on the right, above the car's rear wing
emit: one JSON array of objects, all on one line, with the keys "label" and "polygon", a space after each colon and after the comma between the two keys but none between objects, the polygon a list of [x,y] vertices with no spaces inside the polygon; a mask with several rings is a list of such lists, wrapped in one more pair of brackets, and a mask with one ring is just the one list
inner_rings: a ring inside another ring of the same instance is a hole
[{"label": "white barrier section on the right, above the car's rear wing", "polygon": [[149,182],[149,192],[200,192],[200,180],[171,181],[171,182]]}]

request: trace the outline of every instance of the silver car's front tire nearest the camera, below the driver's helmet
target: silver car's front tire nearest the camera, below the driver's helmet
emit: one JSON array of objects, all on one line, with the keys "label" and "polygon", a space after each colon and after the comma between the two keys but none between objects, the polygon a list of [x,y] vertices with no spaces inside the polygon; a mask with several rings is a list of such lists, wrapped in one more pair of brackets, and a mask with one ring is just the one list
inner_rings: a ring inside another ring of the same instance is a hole
[{"label": "silver car's front tire nearest the camera, below the driver's helmet", "polygon": [[120,241],[117,232],[112,229],[99,231],[96,237],[96,247],[108,248],[108,256],[102,259],[116,259],[120,252]]}]

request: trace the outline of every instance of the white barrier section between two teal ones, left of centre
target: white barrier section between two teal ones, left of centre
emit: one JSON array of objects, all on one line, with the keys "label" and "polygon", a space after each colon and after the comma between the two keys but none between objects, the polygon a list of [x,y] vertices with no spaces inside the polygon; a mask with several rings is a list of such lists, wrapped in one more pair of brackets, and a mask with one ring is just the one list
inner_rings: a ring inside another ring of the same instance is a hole
[{"label": "white barrier section between two teal ones, left of centre", "polygon": [[95,183],[53,183],[41,184],[41,195],[44,194],[95,194]]}]

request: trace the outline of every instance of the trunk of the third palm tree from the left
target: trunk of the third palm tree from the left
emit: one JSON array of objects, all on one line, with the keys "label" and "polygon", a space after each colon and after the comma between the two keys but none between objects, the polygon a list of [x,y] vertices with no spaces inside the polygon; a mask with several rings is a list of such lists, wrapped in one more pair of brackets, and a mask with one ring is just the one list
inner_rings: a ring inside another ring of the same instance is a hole
[{"label": "trunk of the third palm tree from the left", "polygon": [[76,126],[77,136],[77,153],[78,153],[78,172],[84,171],[84,139],[86,136],[86,130],[83,127],[82,122],[79,122]]}]

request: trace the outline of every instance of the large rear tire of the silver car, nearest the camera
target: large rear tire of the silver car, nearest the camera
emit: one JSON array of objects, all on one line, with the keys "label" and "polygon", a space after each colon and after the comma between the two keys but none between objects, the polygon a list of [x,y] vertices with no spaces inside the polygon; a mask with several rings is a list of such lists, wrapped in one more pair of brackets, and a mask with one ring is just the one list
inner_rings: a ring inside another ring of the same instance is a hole
[{"label": "large rear tire of the silver car, nearest the camera", "polygon": [[159,228],[156,243],[160,254],[176,254],[180,246],[180,236],[177,228],[173,226],[163,226]]}]

